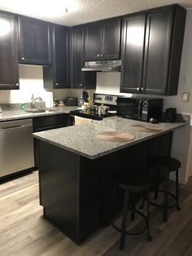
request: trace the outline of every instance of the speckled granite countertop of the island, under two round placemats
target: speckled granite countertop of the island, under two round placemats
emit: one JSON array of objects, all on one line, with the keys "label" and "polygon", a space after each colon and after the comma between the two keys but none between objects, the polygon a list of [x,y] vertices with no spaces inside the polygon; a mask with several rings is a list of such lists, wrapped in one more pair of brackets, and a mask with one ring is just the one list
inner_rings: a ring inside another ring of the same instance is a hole
[{"label": "speckled granite countertop of the island, under two round placemats", "polygon": [[[151,139],[157,135],[162,135],[168,131],[174,130],[187,123],[159,123],[153,126],[163,129],[159,132],[141,132],[131,130],[132,125],[151,125],[143,121],[134,121],[121,117],[107,117],[103,121],[92,121],[89,124],[81,126],[68,126],[55,130],[46,130],[34,133],[37,139],[55,144],[59,148],[75,152],[83,157],[95,159],[111,152],[116,152],[121,148],[129,147],[143,140]],[[127,142],[108,142],[97,139],[95,135],[103,131],[127,132],[134,136],[132,141]]]}]

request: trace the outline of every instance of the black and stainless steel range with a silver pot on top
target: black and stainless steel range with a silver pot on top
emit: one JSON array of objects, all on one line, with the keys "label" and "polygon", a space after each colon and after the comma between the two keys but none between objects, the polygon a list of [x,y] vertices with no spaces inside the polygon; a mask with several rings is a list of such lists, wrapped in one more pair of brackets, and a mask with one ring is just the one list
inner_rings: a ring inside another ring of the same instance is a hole
[{"label": "black and stainless steel range with a silver pot on top", "polygon": [[93,104],[90,107],[72,111],[71,114],[94,120],[103,120],[104,117],[116,116],[116,99],[116,95],[95,93]]}]

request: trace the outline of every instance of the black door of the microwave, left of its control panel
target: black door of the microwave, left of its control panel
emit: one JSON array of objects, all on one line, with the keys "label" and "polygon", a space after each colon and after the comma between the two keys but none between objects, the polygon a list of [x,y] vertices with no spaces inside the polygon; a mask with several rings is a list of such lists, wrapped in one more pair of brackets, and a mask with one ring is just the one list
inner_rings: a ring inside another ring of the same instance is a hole
[{"label": "black door of the microwave, left of its control panel", "polygon": [[117,116],[141,120],[142,99],[117,98]]}]

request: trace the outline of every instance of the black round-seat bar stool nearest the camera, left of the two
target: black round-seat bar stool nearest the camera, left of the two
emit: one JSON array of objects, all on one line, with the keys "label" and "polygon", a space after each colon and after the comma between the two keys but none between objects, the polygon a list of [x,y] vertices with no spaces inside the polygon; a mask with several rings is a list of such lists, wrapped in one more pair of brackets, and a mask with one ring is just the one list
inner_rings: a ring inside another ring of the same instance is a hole
[{"label": "black round-seat bar stool nearest the camera, left of the two", "polygon": [[[124,239],[125,235],[138,235],[142,232],[147,231],[147,239],[148,241],[152,240],[152,236],[150,236],[150,227],[149,227],[149,188],[151,187],[151,183],[149,182],[148,176],[146,172],[142,172],[141,170],[125,170],[120,172],[117,177],[117,182],[114,185],[112,201],[111,201],[111,216],[113,210],[113,203],[116,196],[116,189],[120,187],[124,190],[124,206],[123,206],[123,218],[121,227],[117,227],[116,224],[111,220],[111,226],[116,228],[118,232],[120,232],[120,249],[124,249]],[[146,196],[147,201],[147,210],[146,215],[141,211],[136,210],[136,204],[139,199],[143,196]],[[131,219],[134,219],[135,214],[139,214],[144,219],[146,225],[145,227],[140,228],[137,231],[127,231],[127,215],[128,211],[131,212]],[[112,217],[111,217],[112,219]]]}]

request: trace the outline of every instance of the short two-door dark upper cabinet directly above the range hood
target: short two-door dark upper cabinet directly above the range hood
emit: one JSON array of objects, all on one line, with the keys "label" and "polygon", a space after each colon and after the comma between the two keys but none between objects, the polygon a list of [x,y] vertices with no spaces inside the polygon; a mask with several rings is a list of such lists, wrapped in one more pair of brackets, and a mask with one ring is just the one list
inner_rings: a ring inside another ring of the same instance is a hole
[{"label": "short two-door dark upper cabinet directly above the range hood", "polygon": [[120,31],[120,18],[86,24],[85,60],[120,59]]}]

